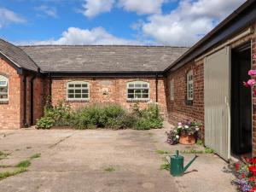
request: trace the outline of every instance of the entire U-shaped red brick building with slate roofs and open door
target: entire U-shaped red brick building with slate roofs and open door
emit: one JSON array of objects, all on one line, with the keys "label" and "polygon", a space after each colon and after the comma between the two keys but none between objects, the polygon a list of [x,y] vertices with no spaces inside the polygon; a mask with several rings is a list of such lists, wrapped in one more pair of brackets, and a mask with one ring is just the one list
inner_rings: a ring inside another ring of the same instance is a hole
[{"label": "entire U-shaped red brick building with slate roofs and open door", "polygon": [[33,125],[46,97],[73,108],[158,102],[170,123],[201,122],[224,159],[256,155],[256,98],[242,84],[256,69],[256,1],[190,49],[161,46],[21,46],[0,40],[0,127]]}]

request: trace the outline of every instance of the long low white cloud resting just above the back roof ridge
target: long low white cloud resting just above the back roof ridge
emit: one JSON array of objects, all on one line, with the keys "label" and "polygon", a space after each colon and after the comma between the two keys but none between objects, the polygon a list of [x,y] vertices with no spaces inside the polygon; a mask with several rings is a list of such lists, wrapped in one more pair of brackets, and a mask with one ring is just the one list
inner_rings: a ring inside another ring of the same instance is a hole
[{"label": "long low white cloud resting just above the back roof ridge", "polygon": [[77,27],[69,27],[66,32],[63,32],[59,39],[49,39],[45,41],[29,41],[18,42],[16,44],[140,44],[136,40],[117,38],[108,33],[102,27],[96,27],[91,30],[80,29]]}]

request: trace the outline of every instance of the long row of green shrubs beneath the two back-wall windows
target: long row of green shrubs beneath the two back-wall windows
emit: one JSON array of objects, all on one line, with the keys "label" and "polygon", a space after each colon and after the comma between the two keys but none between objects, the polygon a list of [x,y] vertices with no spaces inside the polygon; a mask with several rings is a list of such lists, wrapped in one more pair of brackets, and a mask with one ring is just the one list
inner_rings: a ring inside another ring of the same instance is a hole
[{"label": "long row of green shrubs beneath the two back-wall windows", "polygon": [[128,113],[119,105],[93,105],[72,111],[64,102],[57,106],[47,105],[44,108],[44,117],[38,119],[38,129],[49,129],[52,126],[72,126],[76,129],[126,129],[149,130],[162,127],[163,119],[157,105],[149,105],[140,110],[138,105],[132,107]]}]

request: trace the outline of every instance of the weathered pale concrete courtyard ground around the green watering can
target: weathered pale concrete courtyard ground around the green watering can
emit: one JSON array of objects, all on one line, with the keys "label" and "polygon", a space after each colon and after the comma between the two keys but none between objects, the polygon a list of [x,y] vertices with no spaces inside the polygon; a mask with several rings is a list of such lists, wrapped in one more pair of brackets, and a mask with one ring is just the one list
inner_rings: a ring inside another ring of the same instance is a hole
[{"label": "weathered pale concrete courtyard ground around the green watering can", "polygon": [[[27,172],[0,181],[4,192],[190,192],[236,191],[229,166],[214,154],[200,154],[183,177],[160,170],[166,154],[181,145],[165,143],[166,129],[152,131],[34,130],[0,131],[0,151],[9,155],[4,166],[32,154]],[[196,147],[199,148],[199,147]],[[200,147],[201,148],[201,147]],[[184,154],[189,161],[194,154]]]}]

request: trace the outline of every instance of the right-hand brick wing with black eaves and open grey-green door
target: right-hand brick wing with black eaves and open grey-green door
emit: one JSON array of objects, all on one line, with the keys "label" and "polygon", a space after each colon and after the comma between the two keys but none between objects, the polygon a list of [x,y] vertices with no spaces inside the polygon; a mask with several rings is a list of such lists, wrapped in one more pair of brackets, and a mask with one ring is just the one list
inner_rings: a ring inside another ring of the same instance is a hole
[{"label": "right-hand brick wing with black eaves and open grey-green door", "polygon": [[247,1],[165,70],[168,118],[196,120],[225,160],[256,155],[256,99],[243,85],[256,69],[256,1]]}]

